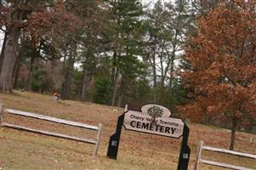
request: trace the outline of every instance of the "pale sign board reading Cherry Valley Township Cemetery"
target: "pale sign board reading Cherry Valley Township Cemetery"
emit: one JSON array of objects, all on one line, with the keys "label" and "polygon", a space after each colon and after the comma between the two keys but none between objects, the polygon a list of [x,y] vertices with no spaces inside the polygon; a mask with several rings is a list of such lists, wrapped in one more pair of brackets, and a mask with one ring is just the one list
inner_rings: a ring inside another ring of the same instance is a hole
[{"label": "pale sign board reading Cherry Valley Township Cemetery", "polygon": [[169,117],[171,112],[167,108],[162,105],[144,105],[141,111],[126,112],[123,126],[128,130],[176,139],[182,136],[185,123],[182,119]]}]

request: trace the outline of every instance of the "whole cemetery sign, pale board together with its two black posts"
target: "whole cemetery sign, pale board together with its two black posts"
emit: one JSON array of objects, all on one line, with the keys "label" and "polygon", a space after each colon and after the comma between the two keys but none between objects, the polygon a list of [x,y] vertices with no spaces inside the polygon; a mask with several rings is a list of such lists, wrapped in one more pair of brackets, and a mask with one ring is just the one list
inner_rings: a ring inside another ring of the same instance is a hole
[{"label": "whole cemetery sign, pale board together with its two black posts", "polygon": [[191,149],[188,142],[190,128],[182,119],[171,116],[171,111],[162,105],[143,105],[141,111],[125,111],[118,117],[116,133],[109,140],[107,156],[117,159],[122,126],[127,130],[151,133],[169,138],[182,138],[178,170],[186,170],[190,160]]}]

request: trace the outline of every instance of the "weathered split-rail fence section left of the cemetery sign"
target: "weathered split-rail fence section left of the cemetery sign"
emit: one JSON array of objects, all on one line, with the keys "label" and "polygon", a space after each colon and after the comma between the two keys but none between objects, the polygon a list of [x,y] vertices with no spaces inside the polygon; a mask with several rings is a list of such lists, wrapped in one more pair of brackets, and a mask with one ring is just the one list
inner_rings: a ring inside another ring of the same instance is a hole
[{"label": "weathered split-rail fence section left of the cemetery sign", "polygon": [[[44,131],[44,130],[38,130],[38,129],[34,129],[34,128],[23,127],[23,126],[6,123],[6,122],[3,122],[3,113],[12,114],[12,115],[16,115],[16,116],[26,116],[26,117],[43,120],[43,121],[65,124],[65,125],[69,125],[72,127],[81,127],[81,128],[85,128],[85,129],[89,129],[89,130],[94,130],[94,131],[97,131],[96,139],[77,138],[74,136],[69,136],[69,135],[65,135],[65,134],[61,134],[61,133],[52,133],[52,132],[48,132],[48,131]],[[81,122],[71,122],[71,121],[67,121],[64,119],[55,118],[52,116],[43,116],[43,115],[26,112],[26,111],[16,111],[16,110],[12,110],[12,109],[4,109],[4,106],[1,103],[0,103],[0,127],[9,127],[9,128],[14,128],[14,129],[18,129],[18,130],[31,132],[31,133],[39,133],[39,134],[44,134],[44,135],[48,135],[48,136],[54,136],[54,137],[61,138],[61,139],[71,139],[71,140],[84,142],[84,143],[88,143],[88,144],[95,144],[94,153],[93,153],[94,156],[97,156],[97,153],[99,150],[100,133],[102,130],[101,123],[99,124],[99,127],[96,127],[96,126],[84,124]]]}]

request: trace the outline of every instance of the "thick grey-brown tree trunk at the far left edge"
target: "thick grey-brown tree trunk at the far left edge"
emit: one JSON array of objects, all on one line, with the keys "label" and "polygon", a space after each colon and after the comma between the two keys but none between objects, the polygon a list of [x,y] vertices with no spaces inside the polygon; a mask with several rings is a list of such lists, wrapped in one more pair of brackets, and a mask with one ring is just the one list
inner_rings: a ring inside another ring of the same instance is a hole
[{"label": "thick grey-brown tree trunk at the far left edge", "polygon": [[13,90],[13,72],[16,59],[18,58],[18,40],[20,37],[20,20],[22,13],[20,11],[12,14],[14,25],[9,27],[8,40],[4,49],[3,65],[0,73],[0,90],[3,93]]}]

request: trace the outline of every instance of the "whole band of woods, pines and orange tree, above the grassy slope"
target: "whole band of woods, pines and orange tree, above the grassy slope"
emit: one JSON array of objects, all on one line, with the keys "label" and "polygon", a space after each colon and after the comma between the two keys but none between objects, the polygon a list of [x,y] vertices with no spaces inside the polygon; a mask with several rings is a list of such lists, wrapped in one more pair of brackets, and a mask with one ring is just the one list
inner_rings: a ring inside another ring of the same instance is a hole
[{"label": "whole band of woods, pines and orange tree, above the grassy slope", "polygon": [[[1,0],[0,89],[253,131],[256,8],[245,0]],[[255,129],[254,129],[255,130]],[[232,149],[232,144],[230,149]]]}]

